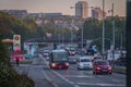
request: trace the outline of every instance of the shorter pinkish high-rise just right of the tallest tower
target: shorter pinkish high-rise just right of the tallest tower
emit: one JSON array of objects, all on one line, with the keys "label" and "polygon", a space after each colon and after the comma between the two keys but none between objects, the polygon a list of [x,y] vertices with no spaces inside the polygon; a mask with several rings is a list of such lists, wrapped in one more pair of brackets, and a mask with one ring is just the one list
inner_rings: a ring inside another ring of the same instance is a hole
[{"label": "shorter pinkish high-rise just right of the tallest tower", "polygon": [[[104,16],[106,17],[106,12],[104,12]],[[103,10],[100,8],[92,9],[92,17],[103,20]]]}]

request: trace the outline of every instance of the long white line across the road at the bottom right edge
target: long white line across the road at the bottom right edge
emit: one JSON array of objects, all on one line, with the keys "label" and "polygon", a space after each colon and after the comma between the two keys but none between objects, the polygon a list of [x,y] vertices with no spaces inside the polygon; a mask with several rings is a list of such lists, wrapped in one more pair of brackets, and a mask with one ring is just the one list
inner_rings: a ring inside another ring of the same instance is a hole
[{"label": "long white line across the road at the bottom right edge", "polygon": [[122,85],[122,84],[100,84],[100,83],[76,83],[79,85],[93,85],[93,86],[104,86],[104,87],[107,87],[107,86],[121,86],[121,87],[126,87],[126,85]]}]

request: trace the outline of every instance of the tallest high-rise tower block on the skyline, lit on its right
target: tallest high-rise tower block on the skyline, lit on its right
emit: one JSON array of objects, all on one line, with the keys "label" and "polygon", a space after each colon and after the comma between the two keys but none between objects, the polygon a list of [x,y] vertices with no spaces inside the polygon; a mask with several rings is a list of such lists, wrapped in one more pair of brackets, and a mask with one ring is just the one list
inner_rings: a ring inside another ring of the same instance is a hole
[{"label": "tallest high-rise tower block on the skyline, lit on its right", "polygon": [[86,1],[79,1],[75,3],[75,16],[82,18],[88,17],[88,3]]}]

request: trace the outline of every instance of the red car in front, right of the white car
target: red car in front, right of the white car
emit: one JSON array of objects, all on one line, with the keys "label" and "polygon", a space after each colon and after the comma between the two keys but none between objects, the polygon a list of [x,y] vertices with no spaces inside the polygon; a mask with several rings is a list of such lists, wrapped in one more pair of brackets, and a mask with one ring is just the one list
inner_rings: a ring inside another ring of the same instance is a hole
[{"label": "red car in front, right of the white car", "polygon": [[93,74],[112,74],[111,65],[107,60],[93,61]]}]

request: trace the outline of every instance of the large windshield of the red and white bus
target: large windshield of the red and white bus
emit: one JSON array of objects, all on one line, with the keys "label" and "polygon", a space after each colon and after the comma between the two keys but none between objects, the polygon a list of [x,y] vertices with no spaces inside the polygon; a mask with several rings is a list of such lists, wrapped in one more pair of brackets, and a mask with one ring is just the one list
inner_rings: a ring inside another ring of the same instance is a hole
[{"label": "large windshield of the red and white bus", "polygon": [[53,61],[68,61],[68,53],[67,52],[53,52]]}]

